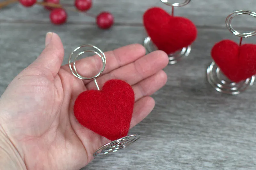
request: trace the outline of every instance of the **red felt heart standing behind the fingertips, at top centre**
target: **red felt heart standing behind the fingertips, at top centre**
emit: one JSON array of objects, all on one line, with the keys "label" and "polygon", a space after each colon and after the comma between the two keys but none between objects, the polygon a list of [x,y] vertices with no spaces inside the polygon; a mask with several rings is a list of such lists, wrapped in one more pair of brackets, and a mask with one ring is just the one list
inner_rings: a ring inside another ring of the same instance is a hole
[{"label": "red felt heart standing behind the fingertips, at top centre", "polygon": [[148,36],[167,54],[188,47],[196,40],[196,26],[187,18],[174,17],[161,8],[148,9],[143,16]]}]

